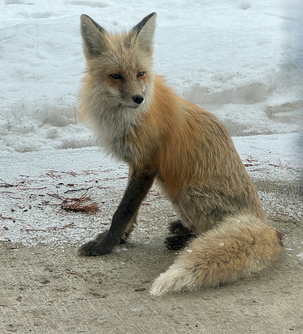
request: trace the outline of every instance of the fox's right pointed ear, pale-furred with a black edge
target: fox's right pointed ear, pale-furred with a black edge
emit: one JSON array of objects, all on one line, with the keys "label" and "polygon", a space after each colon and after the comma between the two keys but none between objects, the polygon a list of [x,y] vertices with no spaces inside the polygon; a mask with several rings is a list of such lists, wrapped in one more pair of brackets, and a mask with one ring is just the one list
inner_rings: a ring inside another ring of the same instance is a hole
[{"label": "fox's right pointed ear, pale-furred with a black edge", "polygon": [[157,13],[155,12],[147,15],[130,31],[133,36],[136,36],[137,45],[147,53],[151,53],[153,51],[156,16]]}]

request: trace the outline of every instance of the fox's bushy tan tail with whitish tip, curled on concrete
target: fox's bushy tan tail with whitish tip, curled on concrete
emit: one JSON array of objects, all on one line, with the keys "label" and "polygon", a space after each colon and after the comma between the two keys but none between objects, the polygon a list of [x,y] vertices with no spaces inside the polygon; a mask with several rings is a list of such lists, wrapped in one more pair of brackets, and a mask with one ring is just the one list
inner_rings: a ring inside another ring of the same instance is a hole
[{"label": "fox's bushy tan tail with whitish tip, curled on concrete", "polygon": [[247,277],[281,255],[281,239],[266,220],[251,215],[228,217],[194,239],[155,280],[150,293],[192,291]]}]

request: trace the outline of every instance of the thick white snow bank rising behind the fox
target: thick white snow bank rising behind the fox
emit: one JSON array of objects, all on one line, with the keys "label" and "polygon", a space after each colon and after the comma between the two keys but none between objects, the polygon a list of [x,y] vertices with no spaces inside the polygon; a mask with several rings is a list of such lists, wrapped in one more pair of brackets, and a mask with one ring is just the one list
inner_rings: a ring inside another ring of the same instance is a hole
[{"label": "thick white snow bank rising behind the fox", "polygon": [[1,152],[96,145],[76,113],[85,68],[82,13],[120,31],[157,11],[155,70],[178,94],[220,117],[232,136],[297,131],[303,38],[302,5],[294,5],[274,0],[1,2]]}]

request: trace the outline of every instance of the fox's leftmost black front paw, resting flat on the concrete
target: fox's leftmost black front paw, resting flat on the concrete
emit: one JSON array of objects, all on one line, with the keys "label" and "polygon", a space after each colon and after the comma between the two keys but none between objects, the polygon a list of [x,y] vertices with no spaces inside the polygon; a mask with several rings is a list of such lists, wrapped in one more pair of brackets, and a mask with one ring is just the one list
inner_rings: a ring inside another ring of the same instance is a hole
[{"label": "fox's leftmost black front paw, resting flat on the concrete", "polygon": [[95,240],[84,243],[78,249],[78,255],[97,256],[108,254],[112,251],[114,243],[109,231],[105,231],[97,235]]}]

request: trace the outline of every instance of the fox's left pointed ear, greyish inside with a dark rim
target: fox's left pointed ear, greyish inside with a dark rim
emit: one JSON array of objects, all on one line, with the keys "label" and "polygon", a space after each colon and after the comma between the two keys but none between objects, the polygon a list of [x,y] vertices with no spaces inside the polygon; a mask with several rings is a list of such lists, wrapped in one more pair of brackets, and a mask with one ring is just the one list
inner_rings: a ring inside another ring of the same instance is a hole
[{"label": "fox's left pointed ear, greyish inside with a dark rim", "polygon": [[105,50],[105,34],[106,30],[98,23],[85,14],[81,15],[81,35],[86,59],[97,57]]}]

